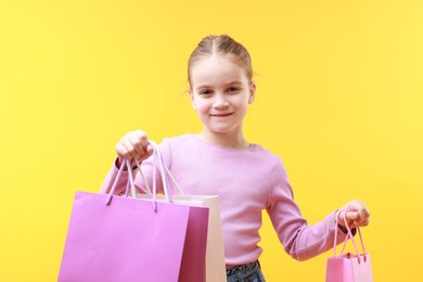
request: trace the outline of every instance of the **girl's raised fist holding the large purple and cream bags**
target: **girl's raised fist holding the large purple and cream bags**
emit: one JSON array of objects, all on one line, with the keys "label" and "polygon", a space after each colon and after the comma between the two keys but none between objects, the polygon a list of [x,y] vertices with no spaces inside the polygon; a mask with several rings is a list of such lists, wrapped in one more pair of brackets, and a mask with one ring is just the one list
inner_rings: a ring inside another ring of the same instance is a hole
[{"label": "girl's raised fist holding the large purple and cream bags", "polygon": [[120,167],[124,158],[128,161],[136,159],[138,163],[141,163],[153,154],[153,148],[149,144],[149,138],[141,130],[126,133],[117,143],[115,150],[118,158],[118,167]]}]

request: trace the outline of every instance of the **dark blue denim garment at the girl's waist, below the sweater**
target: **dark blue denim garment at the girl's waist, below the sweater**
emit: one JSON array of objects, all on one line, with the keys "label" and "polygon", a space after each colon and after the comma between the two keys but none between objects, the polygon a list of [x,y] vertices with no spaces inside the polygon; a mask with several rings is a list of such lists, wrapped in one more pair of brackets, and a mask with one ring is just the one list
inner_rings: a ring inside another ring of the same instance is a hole
[{"label": "dark blue denim garment at the girl's waist, below the sweater", "polygon": [[227,270],[228,282],[266,282],[258,260]]}]

